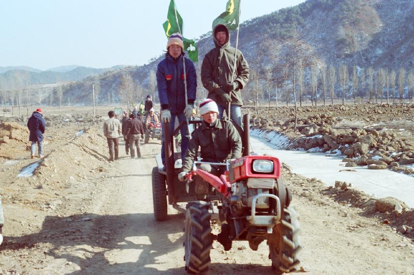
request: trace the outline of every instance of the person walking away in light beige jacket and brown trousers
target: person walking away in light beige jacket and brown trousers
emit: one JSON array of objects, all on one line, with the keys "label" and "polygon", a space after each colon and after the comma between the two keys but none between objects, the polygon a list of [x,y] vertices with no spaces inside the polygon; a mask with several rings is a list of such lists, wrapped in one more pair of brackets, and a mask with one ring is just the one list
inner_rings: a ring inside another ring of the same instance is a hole
[{"label": "person walking away in light beige jacket and brown trousers", "polygon": [[108,141],[109,162],[118,160],[119,135],[122,133],[121,122],[116,119],[115,112],[108,112],[109,119],[104,122],[104,136]]}]

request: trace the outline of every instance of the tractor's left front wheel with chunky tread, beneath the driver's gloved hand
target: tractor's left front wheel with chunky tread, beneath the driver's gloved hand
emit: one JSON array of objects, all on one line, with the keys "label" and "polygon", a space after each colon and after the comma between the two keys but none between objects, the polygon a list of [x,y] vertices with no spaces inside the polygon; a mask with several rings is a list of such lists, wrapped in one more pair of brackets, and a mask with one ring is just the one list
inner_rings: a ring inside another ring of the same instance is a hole
[{"label": "tractor's left front wheel with chunky tread, beneath the driver's gloved hand", "polygon": [[184,224],[184,260],[187,273],[201,274],[208,270],[210,264],[211,238],[209,205],[198,202],[187,204]]}]

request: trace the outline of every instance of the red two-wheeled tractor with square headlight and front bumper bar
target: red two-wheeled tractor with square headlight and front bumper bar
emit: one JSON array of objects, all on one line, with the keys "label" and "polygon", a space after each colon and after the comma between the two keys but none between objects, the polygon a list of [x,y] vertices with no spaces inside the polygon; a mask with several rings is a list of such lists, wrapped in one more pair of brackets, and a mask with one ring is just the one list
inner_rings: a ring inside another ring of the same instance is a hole
[{"label": "red two-wheeled tractor with square headlight and front bumper bar", "polygon": [[[190,274],[207,271],[213,240],[221,243],[226,251],[231,249],[233,241],[248,241],[250,248],[257,250],[259,244],[266,240],[270,250],[269,259],[275,274],[294,271],[299,263],[298,252],[302,248],[299,237],[299,216],[290,205],[292,196],[281,176],[280,162],[271,156],[249,155],[249,116],[244,115],[243,120],[245,130],[242,132],[243,156],[241,158],[230,163],[207,163],[198,159],[186,176],[187,184],[179,181],[177,183],[175,178],[178,170],[169,171],[167,161],[165,174],[167,185],[170,180],[170,182],[174,181],[170,183],[171,186],[176,187],[177,184],[181,184],[180,190],[185,186],[186,201],[189,202],[184,226],[184,259],[186,270]],[[166,128],[168,127],[164,127]],[[166,156],[171,157],[171,152]],[[202,163],[224,165],[227,171],[217,177],[197,169],[197,164]],[[195,177],[208,182],[210,188],[207,195],[200,197],[194,193],[192,179]],[[168,197],[170,201],[169,188]],[[211,233],[210,218],[214,209],[213,204],[217,205],[219,217],[217,222],[221,223],[221,232],[218,235]],[[154,210],[156,212],[155,200]]]}]

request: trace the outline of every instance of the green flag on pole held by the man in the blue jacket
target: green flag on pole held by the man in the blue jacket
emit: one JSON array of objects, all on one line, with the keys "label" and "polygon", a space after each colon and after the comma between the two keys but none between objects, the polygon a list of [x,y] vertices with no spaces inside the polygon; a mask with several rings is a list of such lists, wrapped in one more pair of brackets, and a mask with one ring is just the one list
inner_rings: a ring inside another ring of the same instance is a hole
[{"label": "green flag on pole held by the man in the blue jacket", "polygon": [[[179,32],[181,34],[183,33],[183,18],[181,18],[178,13],[174,0],[170,1],[170,5],[168,6],[167,21],[162,24],[162,27],[164,28],[167,38],[170,38],[170,35],[175,32]],[[198,62],[198,49],[194,40],[183,37],[183,44],[184,50],[187,51],[189,58],[193,62]]]}]

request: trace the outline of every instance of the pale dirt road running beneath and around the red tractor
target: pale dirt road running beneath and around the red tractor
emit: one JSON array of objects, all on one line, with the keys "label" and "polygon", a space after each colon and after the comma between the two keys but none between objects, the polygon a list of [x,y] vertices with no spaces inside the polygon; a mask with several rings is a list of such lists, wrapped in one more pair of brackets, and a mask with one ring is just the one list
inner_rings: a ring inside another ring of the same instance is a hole
[{"label": "pale dirt road running beneath and around the red tractor", "polygon": [[[105,143],[99,149],[106,151]],[[69,188],[56,210],[29,209],[14,217],[29,229],[5,227],[0,273],[186,274],[184,213],[169,207],[168,221],[156,222],[153,216],[150,173],[159,149],[159,142],[144,145],[143,157],[134,160],[121,149],[118,162],[101,160],[102,172]],[[285,177],[301,215],[301,265],[307,274],[414,274],[410,239],[363,210],[321,194],[318,181]],[[6,219],[16,208],[5,205]],[[233,243],[228,252],[214,243],[211,260],[210,274],[272,274],[266,243],[256,252],[243,242]]]}]

